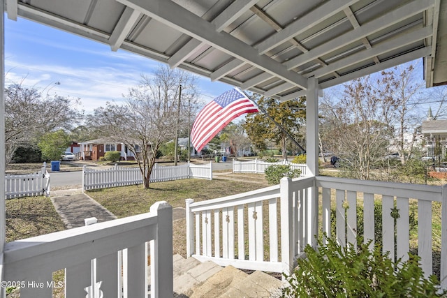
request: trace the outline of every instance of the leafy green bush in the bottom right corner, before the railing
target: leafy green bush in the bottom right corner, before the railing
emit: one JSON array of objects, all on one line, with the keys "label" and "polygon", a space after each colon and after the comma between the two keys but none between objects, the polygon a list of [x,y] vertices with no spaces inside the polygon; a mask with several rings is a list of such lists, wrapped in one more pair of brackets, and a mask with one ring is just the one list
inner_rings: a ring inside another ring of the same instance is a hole
[{"label": "leafy green bush in the bottom right corner, before the railing", "polygon": [[[368,245],[342,248],[335,240],[318,241],[318,251],[305,248],[306,259],[286,277],[287,288],[281,297],[446,297],[438,292],[435,276],[425,278],[419,267],[420,258],[393,262],[382,255],[381,246],[369,251]],[[361,241],[358,241],[359,243]]]}]

